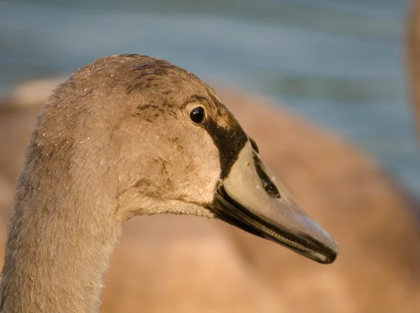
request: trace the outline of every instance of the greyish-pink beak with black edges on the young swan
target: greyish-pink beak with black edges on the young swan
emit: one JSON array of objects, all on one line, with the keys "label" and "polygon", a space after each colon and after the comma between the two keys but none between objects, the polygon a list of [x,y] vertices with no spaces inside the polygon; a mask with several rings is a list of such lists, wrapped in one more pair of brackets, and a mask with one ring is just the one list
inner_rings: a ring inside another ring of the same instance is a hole
[{"label": "greyish-pink beak with black edges on the young swan", "polygon": [[337,257],[337,242],[297,205],[249,140],[218,188],[214,210],[219,219],[319,263]]}]

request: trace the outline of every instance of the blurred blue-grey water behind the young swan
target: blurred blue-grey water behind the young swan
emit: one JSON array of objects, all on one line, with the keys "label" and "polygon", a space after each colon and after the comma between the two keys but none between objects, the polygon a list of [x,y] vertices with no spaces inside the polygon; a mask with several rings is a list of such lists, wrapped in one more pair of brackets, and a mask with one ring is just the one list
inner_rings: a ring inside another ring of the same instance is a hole
[{"label": "blurred blue-grey water behind the young swan", "polygon": [[150,54],[216,85],[268,96],[339,132],[420,196],[403,68],[406,6],[403,0],[0,0],[0,92],[30,78],[68,75],[106,54]]}]

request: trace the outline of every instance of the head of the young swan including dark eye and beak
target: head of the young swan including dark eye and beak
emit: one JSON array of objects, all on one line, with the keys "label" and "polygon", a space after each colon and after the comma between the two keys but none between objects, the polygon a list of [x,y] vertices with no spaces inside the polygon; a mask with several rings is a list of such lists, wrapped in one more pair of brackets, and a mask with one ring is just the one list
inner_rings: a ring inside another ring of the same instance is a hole
[{"label": "head of the young swan including dark eye and beak", "polygon": [[335,240],[297,205],[214,90],[165,60],[97,59],[55,90],[38,124],[38,145],[71,140],[73,168],[94,168],[86,175],[97,188],[106,180],[122,221],[216,217],[320,263],[337,256]]}]

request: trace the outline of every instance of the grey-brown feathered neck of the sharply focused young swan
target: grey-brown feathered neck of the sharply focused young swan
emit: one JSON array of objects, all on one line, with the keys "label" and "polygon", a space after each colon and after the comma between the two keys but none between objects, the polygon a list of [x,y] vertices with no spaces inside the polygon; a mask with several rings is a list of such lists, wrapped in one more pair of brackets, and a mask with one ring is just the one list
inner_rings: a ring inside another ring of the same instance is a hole
[{"label": "grey-brown feathered neck of the sharply focused young swan", "polygon": [[97,312],[121,232],[116,196],[98,190],[94,183],[104,177],[92,170],[75,169],[62,155],[45,161],[34,149],[15,192],[0,312]]}]

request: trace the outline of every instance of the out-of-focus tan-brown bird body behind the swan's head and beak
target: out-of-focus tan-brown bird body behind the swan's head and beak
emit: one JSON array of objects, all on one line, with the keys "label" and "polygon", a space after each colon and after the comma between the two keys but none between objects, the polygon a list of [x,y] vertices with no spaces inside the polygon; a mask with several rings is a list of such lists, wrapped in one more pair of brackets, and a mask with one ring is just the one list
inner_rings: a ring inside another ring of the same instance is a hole
[{"label": "out-of-focus tan-brown bird body behind the swan's head and beak", "polygon": [[[0,105],[1,245],[36,109],[56,83],[26,85]],[[111,260],[101,312],[418,312],[420,231],[407,195],[343,140],[256,96],[220,95],[337,239],[337,261],[314,263],[220,221],[138,217]]]}]

